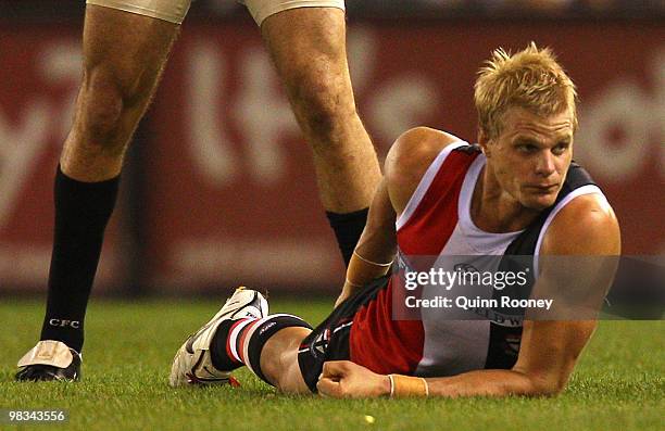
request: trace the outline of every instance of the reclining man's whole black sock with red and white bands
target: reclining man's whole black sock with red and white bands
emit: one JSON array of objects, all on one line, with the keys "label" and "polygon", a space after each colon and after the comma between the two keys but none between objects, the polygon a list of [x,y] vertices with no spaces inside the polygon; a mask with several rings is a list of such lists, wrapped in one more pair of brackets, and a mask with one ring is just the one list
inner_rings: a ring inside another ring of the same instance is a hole
[{"label": "reclining man's whole black sock with red and white bands", "polygon": [[[217,328],[210,345],[210,355],[213,366],[223,371],[231,371],[247,365],[256,377],[268,384],[261,370],[261,351],[271,337],[285,328],[302,327],[312,329],[306,321],[298,316],[276,314],[263,319],[246,318],[224,321]],[[234,348],[237,358],[231,357],[229,337],[235,332]],[[244,354],[247,351],[247,356]]]}]

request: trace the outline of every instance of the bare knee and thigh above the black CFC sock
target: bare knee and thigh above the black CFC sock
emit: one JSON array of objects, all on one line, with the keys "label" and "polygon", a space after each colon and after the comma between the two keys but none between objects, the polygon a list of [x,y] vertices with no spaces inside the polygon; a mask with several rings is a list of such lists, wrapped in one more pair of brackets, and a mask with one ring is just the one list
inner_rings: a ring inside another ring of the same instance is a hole
[{"label": "bare knee and thigh above the black CFC sock", "polygon": [[95,182],[120,174],[178,30],[165,21],[87,7],[83,84],[60,160],[65,175]]}]

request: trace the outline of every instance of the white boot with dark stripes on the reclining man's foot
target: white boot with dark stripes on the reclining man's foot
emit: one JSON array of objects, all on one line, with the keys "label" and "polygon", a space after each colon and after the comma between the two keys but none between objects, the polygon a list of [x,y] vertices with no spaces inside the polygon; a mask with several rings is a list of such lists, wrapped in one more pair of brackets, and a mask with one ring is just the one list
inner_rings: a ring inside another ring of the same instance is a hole
[{"label": "white boot with dark stripes on the reclining man's foot", "polygon": [[230,371],[221,371],[212,364],[210,344],[215,331],[225,320],[243,317],[260,319],[267,314],[268,304],[261,293],[242,287],[236,289],[222,309],[180,346],[173,359],[168,383],[174,388],[229,383]]}]

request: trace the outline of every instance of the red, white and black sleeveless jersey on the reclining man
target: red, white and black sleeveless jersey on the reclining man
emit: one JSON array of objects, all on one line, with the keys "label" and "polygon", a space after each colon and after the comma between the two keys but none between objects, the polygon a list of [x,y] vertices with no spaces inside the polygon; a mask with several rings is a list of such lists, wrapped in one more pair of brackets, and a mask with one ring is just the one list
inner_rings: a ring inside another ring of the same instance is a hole
[{"label": "red, white and black sleeveless jersey on the reclining man", "polygon": [[[556,202],[531,226],[516,232],[486,232],[470,217],[474,189],[485,163],[479,148],[464,141],[437,155],[397,220],[399,259],[481,259],[507,254],[509,249],[510,254],[538,256],[542,238],[561,208],[581,194],[602,195],[588,174],[572,164]],[[505,328],[490,320],[446,318],[396,320],[392,301],[398,294],[402,293],[390,279],[356,312],[349,339],[351,360],[375,372],[415,376],[452,376],[473,369],[510,368],[514,363],[520,325]]]}]

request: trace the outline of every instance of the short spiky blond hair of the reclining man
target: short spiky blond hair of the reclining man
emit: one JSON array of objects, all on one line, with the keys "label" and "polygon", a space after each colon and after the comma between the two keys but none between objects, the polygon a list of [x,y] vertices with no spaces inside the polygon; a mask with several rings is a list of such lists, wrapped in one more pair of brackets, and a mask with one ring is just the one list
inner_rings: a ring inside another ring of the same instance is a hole
[{"label": "short spiky blond hair of the reclining man", "polygon": [[503,114],[509,107],[524,107],[537,115],[560,114],[569,109],[577,128],[575,84],[556,62],[549,48],[535,42],[512,55],[503,48],[492,52],[478,72],[474,86],[478,126],[489,138],[502,131]]}]

